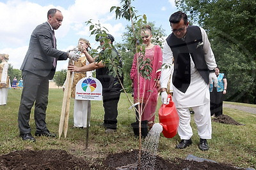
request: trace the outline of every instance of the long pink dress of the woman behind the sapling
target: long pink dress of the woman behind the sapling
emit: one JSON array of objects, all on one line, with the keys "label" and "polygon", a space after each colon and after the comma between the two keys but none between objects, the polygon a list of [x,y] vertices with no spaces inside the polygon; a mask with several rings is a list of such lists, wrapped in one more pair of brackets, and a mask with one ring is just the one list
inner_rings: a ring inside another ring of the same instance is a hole
[{"label": "long pink dress of the woman behind the sapling", "polygon": [[[135,54],[131,68],[131,80],[133,82],[134,103],[138,103],[138,101],[142,103],[143,113],[141,115],[141,120],[148,120],[148,123],[150,124],[154,123],[155,120],[155,111],[159,90],[157,81],[161,76],[161,66],[163,62],[163,53],[160,46],[155,45],[150,49],[146,49],[144,59],[150,59],[152,63],[152,73],[150,74],[150,79],[145,80],[145,78],[140,75],[140,87],[138,89],[138,74],[136,67],[137,58]],[[140,90],[140,97],[138,97],[138,90]]]}]

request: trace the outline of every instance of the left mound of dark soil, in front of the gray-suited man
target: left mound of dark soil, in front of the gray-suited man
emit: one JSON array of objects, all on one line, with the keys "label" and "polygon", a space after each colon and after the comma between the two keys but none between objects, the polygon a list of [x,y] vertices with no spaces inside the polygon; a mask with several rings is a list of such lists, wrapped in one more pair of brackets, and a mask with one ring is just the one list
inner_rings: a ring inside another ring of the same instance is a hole
[{"label": "left mound of dark soil, in front of the gray-suited man", "polygon": [[20,150],[1,155],[0,169],[90,169],[90,166],[65,150]]}]

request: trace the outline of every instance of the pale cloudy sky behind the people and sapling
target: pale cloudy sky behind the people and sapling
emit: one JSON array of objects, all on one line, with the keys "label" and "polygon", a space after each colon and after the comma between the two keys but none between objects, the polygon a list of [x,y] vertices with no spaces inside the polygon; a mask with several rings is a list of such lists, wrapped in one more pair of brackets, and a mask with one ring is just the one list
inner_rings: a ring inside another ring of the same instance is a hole
[{"label": "pale cloudy sky behind the people and sapling", "polygon": [[[28,50],[29,38],[36,25],[47,21],[47,11],[57,8],[63,14],[61,27],[55,31],[58,50],[67,51],[76,46],[79,38],[90,40],[92,47],[99,44],[90,36],[84,22],[92,19],[109,30],[116,42],[122,41],[126,25],[124,19],[115,19],[115,12],[109,13],[111,6],[120,6],[119,0],[0,0],[0,53],[8,53],[13,68],[19,69]],[[174,0],[135,0],[132,6],[137,15],[147,15],[149,22],[162,26],[166,34],[171,33],[168,19],[177,11]],[[67,61],[58,61],[57,70],[66,69]]]}]

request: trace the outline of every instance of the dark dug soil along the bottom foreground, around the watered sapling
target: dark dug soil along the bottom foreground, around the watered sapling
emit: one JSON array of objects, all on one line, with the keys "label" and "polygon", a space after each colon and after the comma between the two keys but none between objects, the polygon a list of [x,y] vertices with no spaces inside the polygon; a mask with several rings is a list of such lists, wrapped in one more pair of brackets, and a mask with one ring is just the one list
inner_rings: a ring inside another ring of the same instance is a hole
[{"label": "dark dug soil along the bottom foreground, around the watered sapling", "polygon": [[[82,158],[74,157],[65,150],[21,150],[0,156],[0,169],[118,169],[121,166],[135,164],[138,151],[108,155],[103,164],[95,165]],[[214,162],[196,162],[175,159],[164,160],[156,156],[155,169],[236,169],[228,164]],[[119,168],[120,169],[120,168]],[[134,169],[123,167],[121,169]],[[136,169],[136,168],[135,168]],[[145,169],[142,167],[142,169]],[[148,169],[148,168],[146,168]],[[237,169],[236,169],[237,170]]]}]

